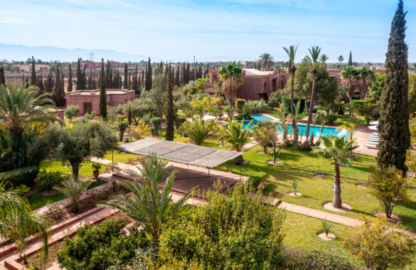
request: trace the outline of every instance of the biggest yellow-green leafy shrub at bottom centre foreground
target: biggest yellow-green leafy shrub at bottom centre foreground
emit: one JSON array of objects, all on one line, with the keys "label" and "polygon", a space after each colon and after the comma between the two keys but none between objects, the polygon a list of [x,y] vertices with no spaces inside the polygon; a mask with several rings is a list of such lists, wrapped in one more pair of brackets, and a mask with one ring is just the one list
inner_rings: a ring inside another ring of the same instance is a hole
[{"label": "biggest yellow-green leafy shrub at bottom centre foreground", "polygon": [[195,260],[201,269],[278,269],[284,210],[267,207],[260,192],[241,184],[230,196],[220,188],[208,191],[209,204],[191,208],[162,232],[159,255]]}]

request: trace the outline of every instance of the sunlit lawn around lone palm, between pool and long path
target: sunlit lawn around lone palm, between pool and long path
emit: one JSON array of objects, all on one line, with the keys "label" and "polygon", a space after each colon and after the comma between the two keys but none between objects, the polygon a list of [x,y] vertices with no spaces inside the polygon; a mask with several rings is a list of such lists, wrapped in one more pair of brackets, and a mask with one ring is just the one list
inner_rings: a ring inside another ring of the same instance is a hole
[{"label": "sunlit lawn around lone palm, between pool and long path", "polygon": [[[322,207],[325,202],[329,202],[333,198],[333,178],[331,175],[334,173],[334,166],[331,166],[329,161],[325,161],[324,166],[324,160],[318,158],[314,153],[287,147],[277,157],[277,160],[282,161],[283,166],[292,168],[272,166],[265,163],[272,160],[272,154],[257,153],[261,150],[260,146],[255,146],[243,153],[242,156],[246,160],[262,163],[249,161],[247,166],[241,168],[241,172],[243,175],[257,175],[262,180],[269,182],[270,185],[264,190],[265,195],[271,194],[274,198],[279,198],[285,202],[330,212]],[[215,167],[215,169],[228,171],[228,168],[231,167],[233,173],[240,173],[240,167],[233,166],[232,162],[227,161]],[[382,210],[379,202],[375,200],[373,195],[370,195],[369,189],[356,187],[356,184],[363,183],[363,180],[368,179],[370,173],[368,166],[371,164],[375,164],[374,157],[358,155],[358,161],[354,162],[353,166],[341,168],[342,200],[353,208],[350,212],[341,215],[358,218],[361,215],[371,215],[372,212]],[[316,172],[321,172],[324,168],[324,172],[331,175],[328,178],[316,178],[314,173],[297,171],[294,168]],[[302,193],[302,197],[294,198],[287,195],[292,191],[291,180],[299,180],[298,191]],[[402,223],[396,226],[416,232],[416,190],[410,189],[409,195],[410,202],[407,205],[395,207],[394,213],[402,217]]]}]

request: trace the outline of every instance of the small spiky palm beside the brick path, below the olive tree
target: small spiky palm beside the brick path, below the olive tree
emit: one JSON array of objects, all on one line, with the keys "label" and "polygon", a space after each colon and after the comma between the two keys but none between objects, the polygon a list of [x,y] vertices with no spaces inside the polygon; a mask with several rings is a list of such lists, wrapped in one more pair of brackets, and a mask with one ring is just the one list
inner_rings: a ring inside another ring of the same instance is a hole
[{"label": "small spiky palm beside the brick path, below the olive tree", "polygon": [[91,183],[90,180],[80,180],[75,175],[71,175],[70,178],[63,181],[62,185],[55,185],[53,188],[63,193],[65,197],[70,198],[73,212],[78,212],[81,194],[87,190]]}]

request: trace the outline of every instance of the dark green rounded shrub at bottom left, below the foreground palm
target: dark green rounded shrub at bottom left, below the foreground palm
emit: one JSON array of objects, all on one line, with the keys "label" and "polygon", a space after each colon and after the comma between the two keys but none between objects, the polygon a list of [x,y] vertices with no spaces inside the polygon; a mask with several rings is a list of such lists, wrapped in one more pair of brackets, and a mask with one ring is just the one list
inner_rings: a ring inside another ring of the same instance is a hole
[{"label": "dark green rounded shrub at bottom left, below the foreground palm", "polygon": [[58,252],[60,267],[75,269],[107,269],[127,264],[135,250],[147,247],[144,232],[132,227],[129,235],[123,230],[125,220],[106,220],[98,227],[85,225],[77,229],[75,239],[65,238],[65,247]]}]

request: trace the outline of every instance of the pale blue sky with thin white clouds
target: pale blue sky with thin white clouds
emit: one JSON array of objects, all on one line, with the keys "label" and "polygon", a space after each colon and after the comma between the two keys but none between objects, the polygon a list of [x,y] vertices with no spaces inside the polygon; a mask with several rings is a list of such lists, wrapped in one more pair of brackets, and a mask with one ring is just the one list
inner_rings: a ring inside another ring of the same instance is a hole
[{"label": "pale blue sky with thin white clouds", "polygon": [[[416,0],[404,0],[409,61],[416,62]],[[166,60],[255,60],[319,45],[383,63],[395,0],[0,0],[0,43],[116,50]],[[0,58],[6,58],[1,55]],[[26,60],[27,55],[22,55]],[[85,55],[84,58],[89,58]]]}]

